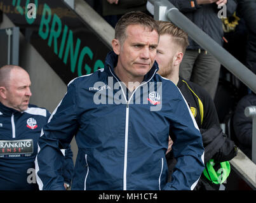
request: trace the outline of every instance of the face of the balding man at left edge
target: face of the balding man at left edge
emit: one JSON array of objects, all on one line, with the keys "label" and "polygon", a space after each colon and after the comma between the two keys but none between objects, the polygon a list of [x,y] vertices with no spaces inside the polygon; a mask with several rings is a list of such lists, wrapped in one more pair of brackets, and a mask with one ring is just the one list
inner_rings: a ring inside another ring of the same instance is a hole
[{"label": "face of the balding man at left edge", "polygon": [[6,87],[6,104],[20,112],[27,109],[30,91],[30,78],[25,70],[13,69],[10,73],[10,82]]}]

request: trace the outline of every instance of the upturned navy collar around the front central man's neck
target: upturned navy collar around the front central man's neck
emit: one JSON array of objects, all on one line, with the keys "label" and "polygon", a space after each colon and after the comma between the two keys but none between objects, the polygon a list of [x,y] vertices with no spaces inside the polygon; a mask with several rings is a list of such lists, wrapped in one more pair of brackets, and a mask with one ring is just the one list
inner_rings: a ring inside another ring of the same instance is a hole
[{"label": "upturned navy collar around the front central man's neck", "polygon": [[[108,74],[114,74],[116,77],[117,75],[114,73],[114,67],[118,64],[118,55],[114,53],[114,51],[110,51],[107,53],[106,59],[105,59],[105,69],[104,71],[108,72]],[[148,81],[149,79],[152,78],[153,75],[158,72],[158,63],[155,61],[151,70],[144,76],[143,81]],[[117,77],[118,78],[118,77]]]}]

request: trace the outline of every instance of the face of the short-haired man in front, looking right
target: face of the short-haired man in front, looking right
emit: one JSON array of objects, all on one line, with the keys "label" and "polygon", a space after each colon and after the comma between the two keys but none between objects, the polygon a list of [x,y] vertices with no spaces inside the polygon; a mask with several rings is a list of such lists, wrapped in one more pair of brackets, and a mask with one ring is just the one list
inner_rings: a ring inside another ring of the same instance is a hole
[{"label": "face of the short-haired man in front, looking right", "polygon": [[[158,32],[142,25],[128,25],[126,39],[118,49],[118,69],[128,79],[144,77],[151,69],[158,46]],[[129,80],[130,81],[130,80]]]}]

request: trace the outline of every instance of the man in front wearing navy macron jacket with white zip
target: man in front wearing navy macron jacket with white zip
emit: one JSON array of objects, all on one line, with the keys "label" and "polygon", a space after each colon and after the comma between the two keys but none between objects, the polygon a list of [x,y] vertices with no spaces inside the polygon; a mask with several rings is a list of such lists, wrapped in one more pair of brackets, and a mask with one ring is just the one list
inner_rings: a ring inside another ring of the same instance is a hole
[{"label": "man in front wearing navy macron jacket with white zip", "polygon": [[[126,39],[117,31],[124,23]],[[69,83],[39,138],[40,189],[64,189],[60,148],[74,135],[78,153],[72,190],[194,188],[204,169],[201,134],[179,89],[156,74],[158,39],[151,17],[127,13],[116,25],[114,52],[107,55],[104,69]],[[130,88],[127,81],[136,81],[135,76],[139,82]],[[177,157],[171,183],[165,159],[169,133]]]}]

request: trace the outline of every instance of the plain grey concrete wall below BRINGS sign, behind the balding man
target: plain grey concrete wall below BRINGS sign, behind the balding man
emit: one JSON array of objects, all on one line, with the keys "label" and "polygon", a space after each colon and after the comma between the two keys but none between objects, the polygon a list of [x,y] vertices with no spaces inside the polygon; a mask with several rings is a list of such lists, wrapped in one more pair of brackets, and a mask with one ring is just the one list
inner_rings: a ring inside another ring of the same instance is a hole
[{"label": "plain grey concrete wall below BRINGS sign, behind the balding man", "polygon": [[[14,26],[11,20],[6,15],[3,15],[0,29]],[[19,54],[20,67],[27,70],[30,75],[32,92],[30,103],[53,112],[65,95],[67,86],[22,34],[20,34]],[[74,154],[73,160],[76,160],[77,145],[74,138],[71,142],[71,148]]]}]

